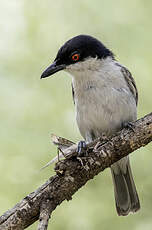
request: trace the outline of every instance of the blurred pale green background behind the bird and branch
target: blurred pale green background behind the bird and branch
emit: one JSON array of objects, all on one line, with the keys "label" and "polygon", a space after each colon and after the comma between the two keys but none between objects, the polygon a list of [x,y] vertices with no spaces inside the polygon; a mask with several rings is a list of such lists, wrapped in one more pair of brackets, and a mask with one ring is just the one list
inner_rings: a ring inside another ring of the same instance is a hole
[{"label": "blurred pale green background behind the bird and branch", "polygon": [[[50,134],[81,139],[71,79],[40,80],[59,47],[78,34],[102,40],[132,72],[138,117],[151,112],[151,0],[13,0],[0,3],[0,214],[53,175],[39,169],[55,154]],[[48,229],[152,229],[150,145],[131,156],[141,210],[118,217],[108,170],[53,213]],[[36,229],[37,223],[28,229]]]}]

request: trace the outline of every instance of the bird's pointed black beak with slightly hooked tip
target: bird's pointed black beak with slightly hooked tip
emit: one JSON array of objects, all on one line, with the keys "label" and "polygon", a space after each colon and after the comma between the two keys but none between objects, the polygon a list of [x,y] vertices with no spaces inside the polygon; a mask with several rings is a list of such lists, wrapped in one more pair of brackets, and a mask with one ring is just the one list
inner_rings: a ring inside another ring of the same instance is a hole
[{"label": "bird's pointed black beak with slightly hooked tip", "polygon": [[52,74],[65,69],[65,65],[57,65],[56,61],[50,65],[46,70],[44,70],[44,72],[41,75],[41,78],[45,78],[45,77],[49,77]]}]

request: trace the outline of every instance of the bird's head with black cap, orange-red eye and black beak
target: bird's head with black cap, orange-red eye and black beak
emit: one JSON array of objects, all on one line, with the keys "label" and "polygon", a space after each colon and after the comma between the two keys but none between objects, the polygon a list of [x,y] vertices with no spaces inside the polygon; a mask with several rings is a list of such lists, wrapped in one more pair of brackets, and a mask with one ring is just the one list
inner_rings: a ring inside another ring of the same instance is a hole
[{"label": "bird's head with black cap, orange-red eye and black beak", "polygon": [[113,53],[99,40],[88,35],[79,35],[68,40],[58,51],[53,62],[41,75],[49,77],[60,70],[73,73],[98,68],[99,61]]}]

